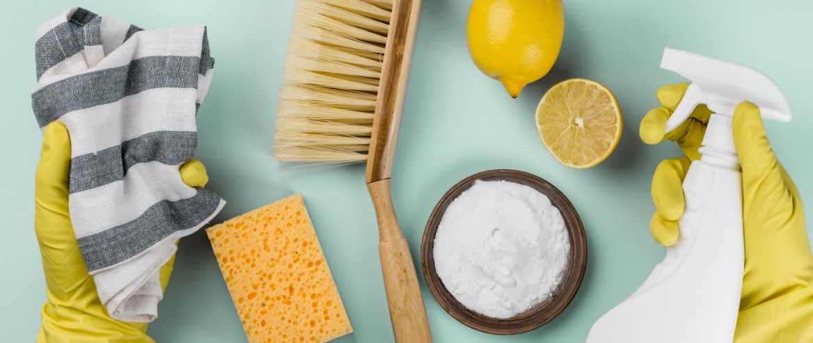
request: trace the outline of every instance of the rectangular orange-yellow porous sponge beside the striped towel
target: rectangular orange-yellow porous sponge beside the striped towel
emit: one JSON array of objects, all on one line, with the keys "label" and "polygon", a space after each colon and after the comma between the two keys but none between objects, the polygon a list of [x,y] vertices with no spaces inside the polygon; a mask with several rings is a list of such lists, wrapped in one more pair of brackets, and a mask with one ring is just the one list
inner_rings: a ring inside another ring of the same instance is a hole
[{"label": "rectangular orange-yellow porous sponge beside the striped towel", "polygon": [[324,342],[353,332],[301,195],[207,234],[249,342]]}]

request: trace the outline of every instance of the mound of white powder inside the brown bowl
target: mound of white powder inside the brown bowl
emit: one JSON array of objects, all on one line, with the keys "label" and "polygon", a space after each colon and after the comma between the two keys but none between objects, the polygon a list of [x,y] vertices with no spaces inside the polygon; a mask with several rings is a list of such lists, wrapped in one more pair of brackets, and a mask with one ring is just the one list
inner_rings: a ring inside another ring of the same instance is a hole
[{"label": "mound of white powder inside the brown bowl", "polygon": [[446,208],[433,254],[437,275],[458,302],[506,319],[551,297],[570,249],[562,214],[545,194],[477,180]]}]

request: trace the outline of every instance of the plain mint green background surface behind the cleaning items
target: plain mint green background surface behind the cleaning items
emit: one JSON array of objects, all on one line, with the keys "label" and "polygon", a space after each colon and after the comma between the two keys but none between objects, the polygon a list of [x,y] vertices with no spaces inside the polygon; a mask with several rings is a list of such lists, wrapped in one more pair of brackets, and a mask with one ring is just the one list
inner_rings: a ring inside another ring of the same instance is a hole
[{"label": "plain mint green background surface behind the cleaning items", "polygon": [[[35,83],[33,34],[70,5],[4,2],[0,341],[22,342],[36,336],[46,299],[33,232],[33,175],[41,143],[29,100]],[[458,323],[437,305],[420,277],[436,341],[582,342],[592,323],[632,293],[663,258],[664,249],[651,240],[648,228],[650,176],[659,160],[680,152],[672,144],[643,145],[637,128],[646,111],[658,105],[655,89],[680,80],[658,67],[664,46],[744,63],[776,80],[795,118],[792,124],[767,128],[802,195],[813,196],[813,2],[566,0],[559,61],[518,99],[508,97],[469,59],[465,27],[470,3],[424,0],[393,172],[394,203],[415,262],[420,263],[426,219],[446,189],[476,172],[515,168],[549,180],[571,199],[585,224],[589,263],[567,310],[546,326],[516,336],[491,336]],[[293,1],[75,4],[143,28],[208,25],[217,63],[198,116],[197,157],[211,176],[207,187],[228,201],[215,222],[302,193],[355,329],[337,342],[393,341],[363,166],[286,178],[270,158]],[[571,77],[606,85],[624,111],[624,135],[615,153],[584,171],[557,163],[533,124],[542,93]],[[181,241],[159,314],[150,334],[160,342],[245,340],[203,232]]]}]

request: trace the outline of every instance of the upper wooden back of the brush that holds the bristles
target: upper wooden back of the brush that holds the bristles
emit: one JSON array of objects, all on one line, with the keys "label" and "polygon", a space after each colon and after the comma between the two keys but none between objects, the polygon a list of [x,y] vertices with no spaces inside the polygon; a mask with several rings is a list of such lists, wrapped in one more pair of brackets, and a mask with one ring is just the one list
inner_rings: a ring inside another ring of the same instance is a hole
[{"label": "upper wooden back of the brush that holds the bristles", "polygon": [[372,121],[372,137],[367,155],[367,182],[392,176],[398,127],[406,98],[406,80],[418,32],[420,0],[393,3],[393,17],[381,67],[381,79]]}]

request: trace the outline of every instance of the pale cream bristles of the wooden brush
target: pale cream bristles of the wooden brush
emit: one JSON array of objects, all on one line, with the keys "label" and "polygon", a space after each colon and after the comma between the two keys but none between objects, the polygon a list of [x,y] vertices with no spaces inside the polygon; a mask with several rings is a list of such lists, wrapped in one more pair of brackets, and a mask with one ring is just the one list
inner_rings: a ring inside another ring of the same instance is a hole
[{"label": "pale cream bristles of the wooden brush", "polygon": [[274,158],[367,160],[393,0],[298,0]]}]

